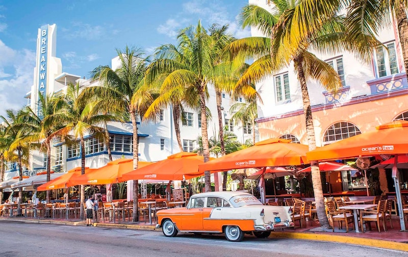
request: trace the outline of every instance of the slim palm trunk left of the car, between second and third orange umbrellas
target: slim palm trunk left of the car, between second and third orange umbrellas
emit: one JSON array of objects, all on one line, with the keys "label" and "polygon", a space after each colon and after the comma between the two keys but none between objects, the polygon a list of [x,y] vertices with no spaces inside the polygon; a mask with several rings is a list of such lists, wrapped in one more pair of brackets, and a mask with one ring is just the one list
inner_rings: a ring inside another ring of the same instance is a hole
[{"label": "slim palm trunk left of the car, between second and third orange umbrellas", "polygon": [[[137,169],[138,162],[139,162],[139,137],[137,135],[137,122],[136,122],[136,115],[137,112],[135,110],[131,110],[131,119],[132,119],[132,126],[133,126],[133,168]],[[139,202],[138,202],[138,193],[139,193],[139,181],[133,181],[133,222],[139,221]]]}]

